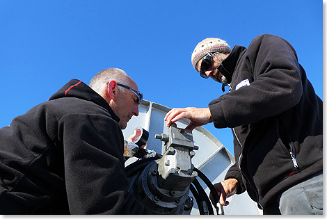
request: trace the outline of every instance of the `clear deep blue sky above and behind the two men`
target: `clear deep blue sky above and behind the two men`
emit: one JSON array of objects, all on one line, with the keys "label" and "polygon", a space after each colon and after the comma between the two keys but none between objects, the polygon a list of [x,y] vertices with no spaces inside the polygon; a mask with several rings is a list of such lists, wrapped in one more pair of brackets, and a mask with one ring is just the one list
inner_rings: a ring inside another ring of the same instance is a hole
[{"label": "clear deep blue sky above and behind the two men", "polygon": [[[70,79],[88,84],[109,67],[125,70],[151,102],[207,107],[223,92],[193,69],[196,44],[248,47],[262,33],[294,46],[322,99],[323,1],[0,1],[0,127]],[[230,129],[205,129],[233,153]]]}]

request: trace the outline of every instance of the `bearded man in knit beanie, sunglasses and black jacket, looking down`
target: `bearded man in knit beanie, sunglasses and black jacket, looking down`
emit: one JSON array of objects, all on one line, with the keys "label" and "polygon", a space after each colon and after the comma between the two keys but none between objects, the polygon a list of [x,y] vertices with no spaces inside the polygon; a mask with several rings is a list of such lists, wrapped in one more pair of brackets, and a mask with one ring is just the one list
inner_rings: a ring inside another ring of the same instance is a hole
[{"label": "bearded man in knit beanie, sunglasses and black jacket, looking down", "polygon": [[208,108],[173,108],[165,120],[170,126],[188,118],[190,130],[209,122],[232,128],[236,163],[214,185],[218,202],[227,205],[227,197],[246,190],[264,214],[322,214],[323,103],[292,45],[264,34],[230,50],[207,38],[191,61],[230,92]]}]

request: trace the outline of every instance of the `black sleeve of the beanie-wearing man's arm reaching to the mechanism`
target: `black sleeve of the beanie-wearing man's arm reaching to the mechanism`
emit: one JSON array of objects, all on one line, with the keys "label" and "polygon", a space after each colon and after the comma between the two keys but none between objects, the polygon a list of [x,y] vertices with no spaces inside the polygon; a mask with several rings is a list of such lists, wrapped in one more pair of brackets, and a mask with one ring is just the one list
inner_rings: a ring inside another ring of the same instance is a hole
[{"label": "black sleeve of the beanie-wearing man's arm reaching to the mechanism", "polygon": [[[255,38],[233,72],[232,91],[209,103],[214,126],[251,124],[292,108],[303,92],[300,74],[296,53],[286,40],[276,35]],[[250,85],[235,90],[244,79]]]}]

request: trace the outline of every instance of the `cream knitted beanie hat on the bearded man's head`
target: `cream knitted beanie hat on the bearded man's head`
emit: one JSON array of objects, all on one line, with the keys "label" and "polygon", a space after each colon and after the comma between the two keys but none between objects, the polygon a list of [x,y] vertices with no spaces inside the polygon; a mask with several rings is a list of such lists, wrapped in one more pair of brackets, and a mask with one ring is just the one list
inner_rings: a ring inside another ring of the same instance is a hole
[{"label": "cream knitted beanie hat on the bearded man's head", "polygon": [[194,49],[191,61],[194,69],[196,70],[196,64],[198,61],[207,55],[209,52],[228,52],[230,53],[230,46],[225,40],[218,38],[206,38],[196,45]]}]

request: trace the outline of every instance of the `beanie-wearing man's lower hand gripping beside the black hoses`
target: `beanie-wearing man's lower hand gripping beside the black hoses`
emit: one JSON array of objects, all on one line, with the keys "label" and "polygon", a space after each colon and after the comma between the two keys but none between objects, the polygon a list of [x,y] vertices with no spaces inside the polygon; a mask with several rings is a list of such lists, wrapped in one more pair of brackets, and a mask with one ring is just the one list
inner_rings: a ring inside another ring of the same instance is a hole
[{"label": "beanie-wearing man's lower hand gripping beside the black hoses", "polygon": [[[226,179],[218,184],[214,184],[214,188],[216,188],[216,191],[219,195],[219,203],[225,206],[230,204],[228,201],[226,201],[226,199],[237,192],[238,186],[239,186],[239,181],[233,178]],[[214,195],[212,195],[212,193],[210,193],[209,197],[210,200],[212,200],[212,203],[217,204],[214,201]]]}]

